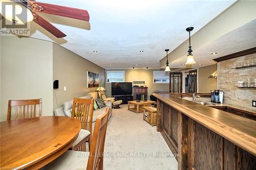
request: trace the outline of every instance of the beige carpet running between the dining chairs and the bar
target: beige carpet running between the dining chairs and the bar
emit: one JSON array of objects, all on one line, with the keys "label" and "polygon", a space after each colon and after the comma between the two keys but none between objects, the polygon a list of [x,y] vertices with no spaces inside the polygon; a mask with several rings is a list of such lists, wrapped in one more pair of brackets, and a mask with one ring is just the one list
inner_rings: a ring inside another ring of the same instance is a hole
[{"label": "beige carpet running between the dining chairs and the bar", "polygon": [[143,113],[113,109],[104,149],[104,169],[178,169],[178,163],[156,126],[143,120]]}]

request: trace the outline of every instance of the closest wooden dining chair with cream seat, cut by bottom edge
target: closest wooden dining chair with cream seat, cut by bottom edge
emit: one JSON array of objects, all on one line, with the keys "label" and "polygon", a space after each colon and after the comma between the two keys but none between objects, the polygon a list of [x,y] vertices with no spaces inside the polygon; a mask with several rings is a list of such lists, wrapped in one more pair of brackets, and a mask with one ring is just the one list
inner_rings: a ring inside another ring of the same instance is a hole
[{"label": "closest wooden dining chair with cream seat, cut by bottom edge", "polygon": [[92,138],[92,146],[90,152],[81,151],[66,151],[60,157],[42,167],[42,169],[87,169],[87,170],[102,170],[104,143],[106,136],[106,127],[108,124],[109,107],[103,115],[98,117],[95,122],[95,128]]}]

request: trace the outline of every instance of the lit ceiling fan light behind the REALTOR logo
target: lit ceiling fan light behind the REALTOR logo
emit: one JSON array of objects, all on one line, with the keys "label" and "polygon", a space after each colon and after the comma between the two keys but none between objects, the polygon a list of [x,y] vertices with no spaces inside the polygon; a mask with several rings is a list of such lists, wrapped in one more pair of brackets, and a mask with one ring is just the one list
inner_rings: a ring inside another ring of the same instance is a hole
[{"label": "lit ceiling fan light behind the REALTOR logo", "polygon": [[[28,9],[26,5],[23,5],[22,3],[23,2],[14,3],[11,1],[1,2],[1,7],[0,7],[1,15],[3,15],[7,20],[17,24],[23,25],[24,23],[31,22],[34,19],[34,16],[31,10]],[[13,6],[15,7],[14,11],[13,11],[14,9]]]}]

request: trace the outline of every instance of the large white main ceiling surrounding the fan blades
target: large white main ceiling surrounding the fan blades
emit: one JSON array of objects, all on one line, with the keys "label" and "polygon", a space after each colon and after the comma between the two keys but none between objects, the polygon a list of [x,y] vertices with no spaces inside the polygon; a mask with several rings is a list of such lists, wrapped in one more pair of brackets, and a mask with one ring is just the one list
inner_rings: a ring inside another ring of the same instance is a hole
[{"label": "large white main ceiling surrounding the fan blades", "polygon": [[[131,69],[132,66],[159,69],[159,60],[166,55],[164,49],[172,51],[184,42],[188,38],[187,27],[193,26],[192,34],[196,33],[234,3],[170,0],[38,2],[86,9],[90,23],[40,14],[67,37],[54,38],[34,22],[31,22],[31,37],[55,41],[105,69]],[[95,50],[98,53],[93,53]],[[144,52],[141,54],[140,50]]]}]

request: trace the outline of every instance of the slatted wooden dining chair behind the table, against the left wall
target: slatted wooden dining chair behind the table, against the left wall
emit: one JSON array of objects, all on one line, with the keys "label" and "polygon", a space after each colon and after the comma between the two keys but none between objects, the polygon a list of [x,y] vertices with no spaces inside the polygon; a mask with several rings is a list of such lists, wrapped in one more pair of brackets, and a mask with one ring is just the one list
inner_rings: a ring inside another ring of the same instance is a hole
[{"label": "slatted wooden dining chair behind the table, against the left wall", "polygon": [[[7,110],[7,120],[41,116],[42,99],[30,100],[9,100]],[[12,116],[14,112],[14,116]]]}]

